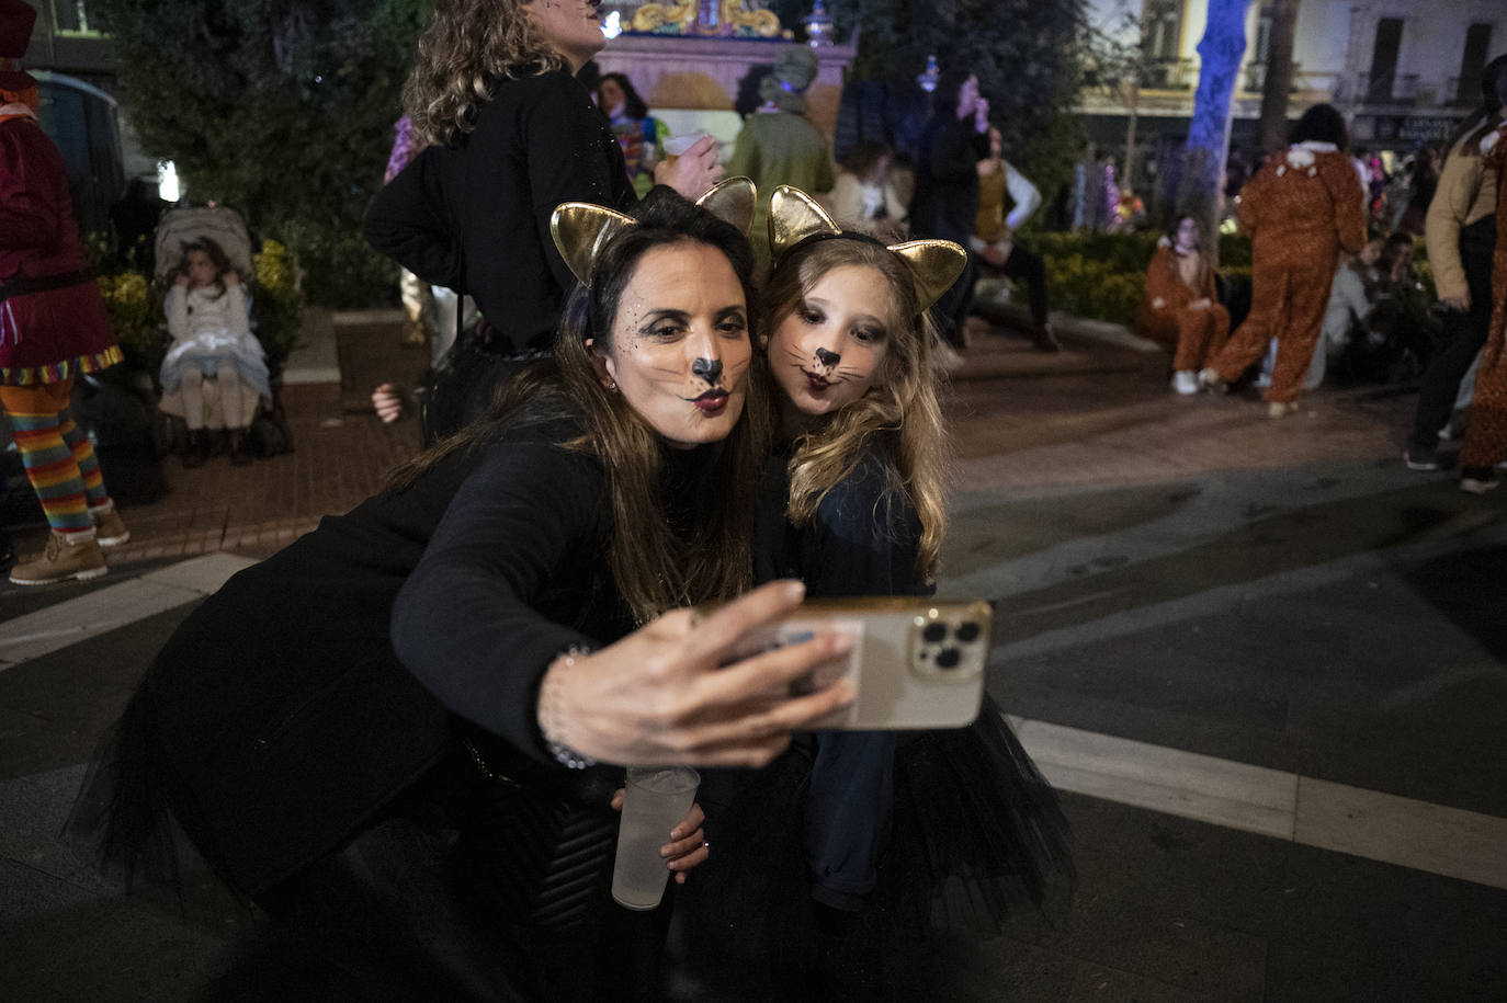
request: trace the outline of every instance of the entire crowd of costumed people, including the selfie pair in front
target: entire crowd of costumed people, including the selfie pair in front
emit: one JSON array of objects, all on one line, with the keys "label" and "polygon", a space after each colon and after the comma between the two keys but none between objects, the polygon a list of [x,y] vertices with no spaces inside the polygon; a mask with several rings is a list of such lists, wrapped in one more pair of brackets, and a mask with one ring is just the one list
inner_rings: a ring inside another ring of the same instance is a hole
[{"label": "entire crowd of costumed people, including the selfie pair in front", "polygon": [[[939,920],[977,943],[1013,892],[1040,905],[1070,883],[1065,821],[992,699],[960,729],[823,730],[853,682],[802,682],[851,637],[755,654],[743,639],[808,596],[934,592],[939,384],[969,348],[978,280],[1022,280],[1028,337],[1061,351],[1050,276],[1017,239],[1041,194],[967,69],[937,80],[915,149],[867,142],[833,169],[803,47],[775,63],[726,164],[711,137],[666,155],[631,80],[577,78],[604,44],[597,14],[436,9],[365,227],[405,270],[419,328],[437,291],[473,304],[436,352],[425,446],[173,631],[69,831],[128,880],[255,910],[276,964],[338,995],[659,998],[678,922],[707,998],[891,998]],[[26,331],[0,339],[0,399],[56,542],[12,572],[23,583],[93,577],[98,545],[128,536],[66,414],[68,378],[119,352],[60,236],[66,191],[29,80],[0,74],[0,214],[23,182],[53,182],[26,194],[45,226],[3,217],[8,239],[35,241],[0,250],[0,316]],[[1436,176],[1420,157],[1385,238],[1368,238],[1385,184],[1335,108],[1307,110],[1239,194],[1252,294],[1237,324],[1213,235],[1177,214],[1138,318],[1172,389],[1224,392],[1266,360],[1257,381],[1284,417],[1326,369],[1392,373],[1406,355],[1427,366],[1406,461],[1433,470],[1480,354],[1460,483],[1493,486],[1504,101],[1507,59]],[[1084,205],[1097,163],[1074,181]],[[1420,310],[1412,271],[1420,212],[1438,310]],[[193,462],[206,426],[238,461],[267,393],[240,295],[212,241],[185,248],[160,380]],[[41,298],[66,330],[26,312]],[[1435,316],[1438,333],[1418,327]],[[378,413],[401,396],[378,387]],[[606,895],[622,768],[656,764],[707,776],[660,851],[684,890],[628,913]]]}]

